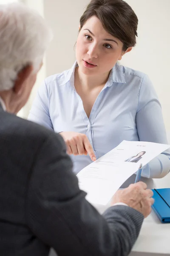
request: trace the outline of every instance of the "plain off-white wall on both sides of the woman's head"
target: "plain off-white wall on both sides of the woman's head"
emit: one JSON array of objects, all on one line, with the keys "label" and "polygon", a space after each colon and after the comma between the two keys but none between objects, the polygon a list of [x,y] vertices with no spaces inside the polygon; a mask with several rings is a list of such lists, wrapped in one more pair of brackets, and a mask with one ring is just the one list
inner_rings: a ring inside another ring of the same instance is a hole
[{"label": "plain off-white wall on both sides of the woman's head", "polygon": [[[79,18],[88,0],[44,0],[44,17],[54,31],[46,58],[46,73],[52,75],[72,66],[75,60]],[[170,0],[126,0],[139,18],[138,44],[122,64],[150,76],[170,130]]]}]

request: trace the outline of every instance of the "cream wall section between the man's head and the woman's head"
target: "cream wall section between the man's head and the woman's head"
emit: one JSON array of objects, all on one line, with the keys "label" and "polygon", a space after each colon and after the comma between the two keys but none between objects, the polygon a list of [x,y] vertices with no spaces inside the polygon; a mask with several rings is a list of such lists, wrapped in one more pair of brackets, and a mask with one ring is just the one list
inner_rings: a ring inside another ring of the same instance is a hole
[{"label": "cream wall section between the man's head and the woman's head", "polygon": [[89,0],[44,0],[44,17],[54,32],[46,58],[48,76],[73,65],[79,18],[88,3]]}]

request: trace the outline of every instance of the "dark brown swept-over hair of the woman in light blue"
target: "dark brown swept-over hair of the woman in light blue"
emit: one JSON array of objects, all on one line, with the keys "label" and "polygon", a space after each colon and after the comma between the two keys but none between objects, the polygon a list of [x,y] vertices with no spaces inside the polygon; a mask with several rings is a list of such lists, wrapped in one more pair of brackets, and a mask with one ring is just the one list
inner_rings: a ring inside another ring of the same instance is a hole
[{"label": "dark brown swept-over hair of the woman in light blue", "polygon": [[123,51],[136,44],[138,18],[123,0],[91,0],[80,18],[80,29],[92,16],[96,16],[103,28],[123,43]]}]

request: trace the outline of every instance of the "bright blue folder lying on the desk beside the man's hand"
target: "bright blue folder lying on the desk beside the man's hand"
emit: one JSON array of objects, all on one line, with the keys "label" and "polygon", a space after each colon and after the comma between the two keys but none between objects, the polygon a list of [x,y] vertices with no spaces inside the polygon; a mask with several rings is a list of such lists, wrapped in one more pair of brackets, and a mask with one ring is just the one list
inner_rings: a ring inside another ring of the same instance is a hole
[{"label": "bright blue folder lying on the desk beside the man's hand", "polygon": [[152,189],[153,210],[162,223],[170,223],[170,189]]}]

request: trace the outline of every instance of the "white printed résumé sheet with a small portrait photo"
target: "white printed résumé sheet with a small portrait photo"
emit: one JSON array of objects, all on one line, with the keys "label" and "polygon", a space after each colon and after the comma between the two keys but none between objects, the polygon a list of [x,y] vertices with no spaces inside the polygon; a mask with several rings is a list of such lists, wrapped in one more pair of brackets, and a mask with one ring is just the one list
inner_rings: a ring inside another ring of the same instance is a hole
[{"label": "white printed r\u00e9sum\u00e9 sheet with a small portrait photo", "polygon": [[[139,151],[146,151],[144,157],[138,163],[125,162],[125,159],[134,154],[137,147]],[[91,204],[106,205],[125,180],[139,169],[140,163],[144,166],[168,148],[170,145],[123,140],[116,148],[77,174],[79,187],[87,192],[86,199]],[[125,151],[128,152],[127,157],[125,157]],[[123,152],[122,160],[120,158],[116,160],[114,157],[115,154],[116,156],[119,155],[119,152]]]}]

